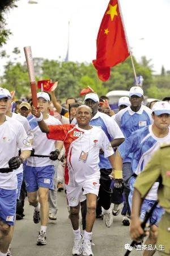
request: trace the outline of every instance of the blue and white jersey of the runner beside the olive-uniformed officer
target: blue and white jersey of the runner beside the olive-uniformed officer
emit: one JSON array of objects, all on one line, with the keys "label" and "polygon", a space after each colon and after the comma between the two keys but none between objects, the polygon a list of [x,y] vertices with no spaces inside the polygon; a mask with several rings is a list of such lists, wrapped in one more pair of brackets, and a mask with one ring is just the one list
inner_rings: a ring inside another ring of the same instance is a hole
[{"label": "blue and white jersey of the runner beside the olive-uniformed officer", "polygon": [[[157,138],[152,132],[152,125],[134,131],[129,138],[118,147],[118,152],[123,159],[132,153],[131,169],[138,175],[150,161],[152,155],[162,143],[170,142],[170,129],[167,136]],[[135,179],[134,179],[135,180]],[[134,181],[133,181],[134,183]],[[146,199],[156,200],[159,182],[155,182]]]}]

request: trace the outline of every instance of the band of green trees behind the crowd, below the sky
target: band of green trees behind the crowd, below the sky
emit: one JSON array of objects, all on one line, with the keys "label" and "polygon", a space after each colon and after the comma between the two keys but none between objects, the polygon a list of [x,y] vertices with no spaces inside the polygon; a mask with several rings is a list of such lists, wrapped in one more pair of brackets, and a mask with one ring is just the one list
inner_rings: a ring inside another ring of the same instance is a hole
[{"label": "band of green trees behind the crowd, below the sky", "polygon": [[[19,49],[14,48],[14,55],[19,58]],[[2,56],[7,56],[5,51],[1,51]],[[17,59],[17,58],[16,58]],[[15,59],[14,59],[15,60]],[[28,71],[24,64],[8,62],[5,67],[5,73],[0,78],[0,86],[5,86],[10,90],[16,91],[16,96],[26,96],[29,92]],[[131,60],[128,58],[124,63],[118,64],[111,70],[111,78],[107,82],[102,82],[97,77],[96,69],[92,64],[59,62],[57,60],[48,60],[35,58],[36,80],[51,79],[58,81],[56,90],[57,97],[65,99],[67,97],[79,97],[80,90],[91,86],[94,91],[105,95],[111,90],[129,90],[134,85],[134,73]],[[165,75],[152,75],[152,65],[146,57],[142,58],[141,63],[134,59],[134,65],[137,75],[142,75],[143,89],[145,95],[151,98],[162,99],[170,95],[170,73]]]}]

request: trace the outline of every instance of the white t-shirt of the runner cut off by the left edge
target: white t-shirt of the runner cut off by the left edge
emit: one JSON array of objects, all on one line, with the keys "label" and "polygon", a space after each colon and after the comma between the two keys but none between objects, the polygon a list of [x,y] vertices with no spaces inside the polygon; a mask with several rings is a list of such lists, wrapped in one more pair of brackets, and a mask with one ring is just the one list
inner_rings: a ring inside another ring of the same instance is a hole
[{"label": "white t-shirt of the runner cut off by the left edge", "polygon": [[[27,141],[27,143],[24,143]],[[32,150],[31,143],[27,139],[24,127],[18,121],[7,117],[6,121],[0,125],[0,168],[7,168],[8,160],[16,156],[16,151]],[[16,172],[0,173],[0,188],[16,189]]]}]

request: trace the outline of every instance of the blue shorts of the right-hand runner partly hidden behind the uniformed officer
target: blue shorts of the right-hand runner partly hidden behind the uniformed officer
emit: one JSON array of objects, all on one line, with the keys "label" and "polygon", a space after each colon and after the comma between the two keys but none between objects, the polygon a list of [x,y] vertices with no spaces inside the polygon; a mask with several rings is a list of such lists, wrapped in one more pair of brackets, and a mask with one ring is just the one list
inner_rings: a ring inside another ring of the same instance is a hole
[{"label": "blue shorts of the right-hand runner partly hidden behind the uniformed officer", "polygon": [[[132,205],[134,182],[135,182],[135,177],[131,177],[130,178],[130,194],[129,194],[130,209],[131,209],[131,205]],[[141,207],[141,215],[140,215],[141,220],[143,220],[145,218],[146,211],[150,210],[154,203],[155,203],[155,200],[150,200],[150,199],[143,200],[142,207]],[[163,214],[164,214],[164,209],[162,207],[160,207],[159,205],[157,205],[157,207],[154,209],[154,212],[152,213],[152,216],[150,217],[150,220],[148,221],[148,223],[158,226],[158,222],[162,218]]]}]

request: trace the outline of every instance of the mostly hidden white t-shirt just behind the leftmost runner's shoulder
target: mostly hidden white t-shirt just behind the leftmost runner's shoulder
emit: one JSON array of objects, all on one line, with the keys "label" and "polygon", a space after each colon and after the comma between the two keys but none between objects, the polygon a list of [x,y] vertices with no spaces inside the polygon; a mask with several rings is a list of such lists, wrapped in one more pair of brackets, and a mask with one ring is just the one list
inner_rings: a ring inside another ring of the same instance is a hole
[{"label": "mostly hidden white t-shirt just behind the leftmost runner's shoulder", "polygon": [[[12,113],[12,117],[13,119],[19,121],[20,123],[22,123],[27,135],[28,135],[28,140],[33,139],[33,133],[31,130],[31,127],[28,123],[27,118],[23,117],[20,114],[16,114],[16,113]],[[19,150],[19,148],[18,148]],[[16,156],[18,156],[18,150],[16,150]],[[20,165],[20,167],[18,169],[15,170],[16,174],[20,174],[21,172],[23,172],[23,164]]]}]

